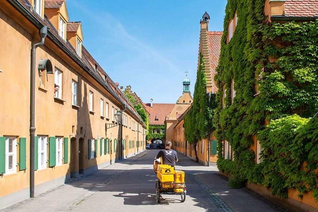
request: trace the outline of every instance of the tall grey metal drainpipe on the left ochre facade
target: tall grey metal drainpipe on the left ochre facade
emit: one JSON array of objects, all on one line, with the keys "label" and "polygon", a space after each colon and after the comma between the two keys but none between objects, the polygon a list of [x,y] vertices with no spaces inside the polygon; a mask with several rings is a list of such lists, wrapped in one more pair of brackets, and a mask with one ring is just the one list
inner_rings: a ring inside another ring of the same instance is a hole
[{"label": "tall grey metal drainpipe on the left ochre facade", "polygon": [[40,30],[41,42],[34,44],[31,52],[31,99],[30,99],[30,197],[34,198],[34,152],[35,152],[35,55],[36,48],[44,44],[48,34],[48,27],[43,26]]}]

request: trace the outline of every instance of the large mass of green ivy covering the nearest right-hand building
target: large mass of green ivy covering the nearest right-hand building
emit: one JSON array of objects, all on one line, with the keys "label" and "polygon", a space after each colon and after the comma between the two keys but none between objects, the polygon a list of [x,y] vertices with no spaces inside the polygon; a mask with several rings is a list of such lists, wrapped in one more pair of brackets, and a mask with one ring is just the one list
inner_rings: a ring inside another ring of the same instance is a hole
[{"label": "large mass of green ivy covering the nearest right-hand building", "polygon": [[[313,191],[318,201],[317,117],[310,118],[318,112],[318,21],[269,23],[264,3],[231,0],[226,7],[215,77],[218,168],[233,176],[233,185],[256,183],[280,197],[287,197],[288,189],[300,197]],[[238,23],[227,44],[235,12]],[[262,146],[260,164],[250,149],[256,136]],[[230,142],[234,161],[223,159],[223,141]]]}]

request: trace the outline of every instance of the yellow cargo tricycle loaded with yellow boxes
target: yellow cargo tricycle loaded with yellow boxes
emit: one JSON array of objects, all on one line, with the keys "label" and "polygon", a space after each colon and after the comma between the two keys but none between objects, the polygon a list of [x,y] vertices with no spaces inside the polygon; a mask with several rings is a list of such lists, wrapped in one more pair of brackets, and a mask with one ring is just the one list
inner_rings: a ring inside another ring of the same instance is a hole
[{"label": "yellow cargo tricycle loaded with yellow boxes", "polygon": [[[162,161],[162,160],[161,160]],[[181,202],[185,201],[187,188],[184,183],[184,171],[175,170],[173,166],[160,164],[158,160],[154,160],[154,172],[157,174],[156,180],[156,199],[160,203],[160,194],[179,193]]]}]

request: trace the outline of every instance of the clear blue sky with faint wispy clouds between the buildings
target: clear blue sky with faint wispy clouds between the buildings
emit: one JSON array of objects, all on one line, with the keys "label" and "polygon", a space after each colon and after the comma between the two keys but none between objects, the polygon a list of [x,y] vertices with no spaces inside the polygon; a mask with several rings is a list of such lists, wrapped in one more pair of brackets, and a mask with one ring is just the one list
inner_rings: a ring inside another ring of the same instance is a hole
[{"label": "clear blue sky with faint wispy clouds between the buildings", "polygon": [[175,103],[187,70],[193,96],[200,19],[223,31],[226,0],[67,0],[81,21],[83,45],[120,86],[149,103]]}]

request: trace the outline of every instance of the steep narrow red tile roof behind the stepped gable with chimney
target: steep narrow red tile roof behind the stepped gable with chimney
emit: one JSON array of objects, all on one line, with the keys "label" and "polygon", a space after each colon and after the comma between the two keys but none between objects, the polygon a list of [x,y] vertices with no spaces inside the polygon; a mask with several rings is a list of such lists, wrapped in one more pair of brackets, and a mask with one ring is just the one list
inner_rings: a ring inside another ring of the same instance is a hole
[{"label": "steep narrow red tile roof behind the stepped gable with chimney", "polygon": [[218,88],[214,82],[214,76],[217,73],[215,69],[219,64],[222,35],[223,35],[223,32],[207,32],[211,80],[213,85],[212,92],[214,93],[218,91]]}]

